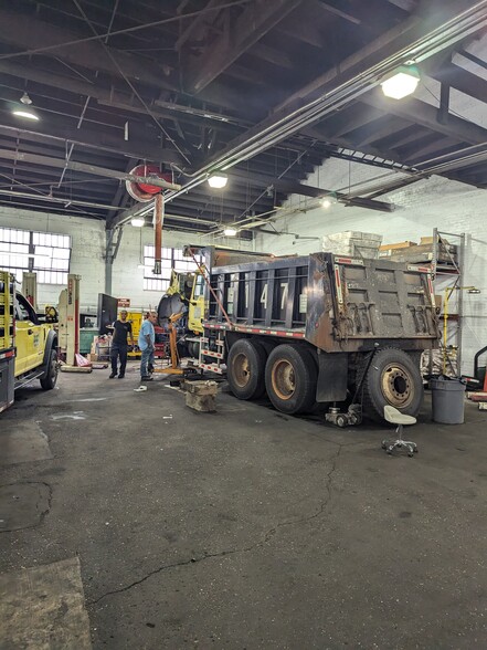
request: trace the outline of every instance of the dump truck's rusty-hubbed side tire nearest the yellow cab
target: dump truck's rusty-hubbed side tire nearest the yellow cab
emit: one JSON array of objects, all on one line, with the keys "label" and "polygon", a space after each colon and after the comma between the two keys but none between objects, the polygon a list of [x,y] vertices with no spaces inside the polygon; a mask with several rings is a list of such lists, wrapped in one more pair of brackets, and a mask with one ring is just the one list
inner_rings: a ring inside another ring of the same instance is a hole
[{"label": "dump truck's rusty-hubbed side tire nearest the yellow cab", "polygon": [[226,359],[230,389],[239,399],[255,399],[265,392],[265,349],[248,338],[236,340]]}]

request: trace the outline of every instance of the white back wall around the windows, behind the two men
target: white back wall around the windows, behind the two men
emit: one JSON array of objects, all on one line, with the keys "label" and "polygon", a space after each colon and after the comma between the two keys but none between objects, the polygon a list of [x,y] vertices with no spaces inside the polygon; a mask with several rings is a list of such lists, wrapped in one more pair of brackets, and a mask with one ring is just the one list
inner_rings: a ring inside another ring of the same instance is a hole
[{"label": "white back wall around the windows, behind the two men", "polygon": [[[72,237],[71,273],[81,275],[81,305],[96,312],[98,293],[105,292],[105,223],[94,219],[67,217],[31,210],[18,210],[0,206],[0,227],[70,234]],[[144,245],[153,243],[151,228],[124,227],[117,258],[113,266],[112,294],[129,297],[134,308],[150,308],[158,305],[160,293],[144,291],[144,269],[138,269],[144,255]],[[232,248],[251,248],[251,242],[235,238],[214,239],[165,230],[162,245],[181,248],[184,244],[212,244]],[[57,304],[63,285],[39,284],[38,303]]]}]

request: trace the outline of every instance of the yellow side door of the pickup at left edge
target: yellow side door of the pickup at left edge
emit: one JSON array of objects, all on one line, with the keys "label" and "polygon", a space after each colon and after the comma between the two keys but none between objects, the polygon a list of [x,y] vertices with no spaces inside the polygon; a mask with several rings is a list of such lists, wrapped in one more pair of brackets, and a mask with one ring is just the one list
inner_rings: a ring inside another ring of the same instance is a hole
[{"label": "yellow side door of the pickup at left edge", "polygon": [[17,294],[15,310],[15,377],[42,365],[45,331],[31,304]]}]

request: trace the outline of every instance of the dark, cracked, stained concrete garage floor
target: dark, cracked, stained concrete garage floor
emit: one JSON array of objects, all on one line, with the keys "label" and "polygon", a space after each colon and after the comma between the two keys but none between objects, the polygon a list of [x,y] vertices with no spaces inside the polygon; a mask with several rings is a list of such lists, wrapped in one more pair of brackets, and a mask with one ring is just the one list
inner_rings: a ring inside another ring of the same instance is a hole
[{"label": "dark, cracked, stained concrete garage floor", "polygon": [[44,441],[0,468],[0,570],[78,556],[95,649],[487,647],[487,412],[438,426],[426,402],[420,453],[390,458],[388,429],[107,376],[0,416],[3,448]]}]

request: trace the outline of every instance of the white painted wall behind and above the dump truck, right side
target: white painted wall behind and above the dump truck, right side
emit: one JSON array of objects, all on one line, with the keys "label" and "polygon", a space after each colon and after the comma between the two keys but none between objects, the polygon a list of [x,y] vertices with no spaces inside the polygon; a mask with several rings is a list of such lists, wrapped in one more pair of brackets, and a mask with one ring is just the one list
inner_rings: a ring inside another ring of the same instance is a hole
[{"label": "white painted wall behind and above the dump truck, right side", "polygon": [[[334,160],[325,162],[307,182],[347,191],[349,185],[353,187],[368,177],[381,174],[384,174],[383,170],[377,168],[359,165],[350,167],[346,161]],[[337,203],[328,210],[319,207],[303,212],[299,210],[316,205],[316,201],[293,196],[287,201],[286,209],[294,212],[273,222],[274,228],[284,234],[258,234],[254,245],[257,250],[278,255],[307,254],[321,250],[319,238],[324,234],[346,230],[382,234],[384,243],[405,240],[419,242],[421,237],[431,237],[435,227],[452,233],[464,232],[466,259],[463,284],[481,290],[479,295],[464,292],[462,370],[472,373],[474,354],[487,345],[487,192],[434,177],[378,199],[393,202],[396,206],[395,211],[377,212]],[[290,233],[318,239],[295,239]],[[451,241],[454,243],[453,238]],[[452,307],[454,310],[454,304]]]}]

